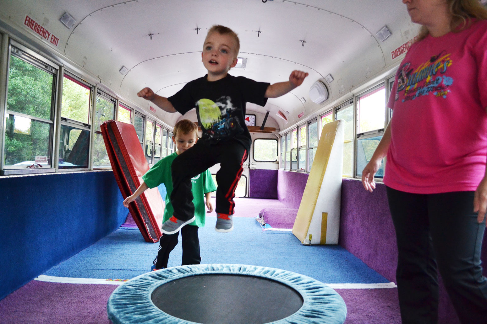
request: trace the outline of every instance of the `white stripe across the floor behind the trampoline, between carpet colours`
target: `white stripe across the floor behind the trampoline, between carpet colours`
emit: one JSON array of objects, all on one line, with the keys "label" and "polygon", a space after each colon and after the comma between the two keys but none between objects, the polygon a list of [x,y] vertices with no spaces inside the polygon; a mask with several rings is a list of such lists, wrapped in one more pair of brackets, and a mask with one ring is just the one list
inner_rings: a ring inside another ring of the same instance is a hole
[{"label": "white stripe across the floor behind the trampoline, between carpet colours", "polygon": [[[93,279],[93,278],[70,278],[70,277],[54,277],[41,274],[34,280],[56,282],[63,284],[97,284],[97,285],[121,285],[127,280],[122,279]],[[333,289],[380,289],[380,288],[396,288],[393,282],[382,284],[327,284]]]}]

